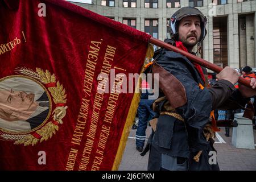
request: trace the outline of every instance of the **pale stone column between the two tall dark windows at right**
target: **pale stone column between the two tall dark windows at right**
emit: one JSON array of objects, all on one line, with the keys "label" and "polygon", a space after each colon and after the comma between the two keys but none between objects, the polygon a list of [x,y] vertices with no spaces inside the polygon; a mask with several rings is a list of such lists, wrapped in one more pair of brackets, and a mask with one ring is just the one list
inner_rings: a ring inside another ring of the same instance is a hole
[{"label": "pale stone column between the two tall dark windows at right", "polygon": [[228,16],[228,65],[239,68],[238,14]]}]

